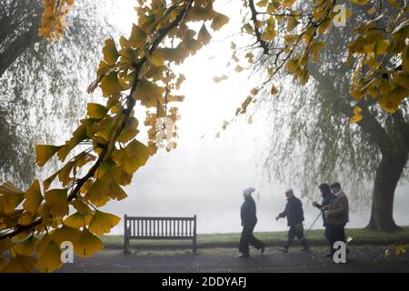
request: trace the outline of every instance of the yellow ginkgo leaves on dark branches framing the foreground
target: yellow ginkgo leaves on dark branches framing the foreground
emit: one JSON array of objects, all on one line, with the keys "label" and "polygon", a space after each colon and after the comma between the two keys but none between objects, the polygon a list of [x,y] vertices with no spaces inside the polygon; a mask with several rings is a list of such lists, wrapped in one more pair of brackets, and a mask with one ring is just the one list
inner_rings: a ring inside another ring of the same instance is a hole
[{"label": "yellow ginkgo leaves on dark branches framing the foreground", "polygon": [[[369,1],[351,2],[363,5]],[[45,0],[41,35],[50,40],[61,36],[66,14],[62,7],[73,3],[73,0]],[[2,271],[34,268],[53,271],[62,265],[59,247],[63,241],[71,241],[79,256],[90,256],[103,247],[97,236],[109,232],[119,217],[98,207],[125,198],[122,186],[130,184],[135,171],[145,165],[158,146],[166,144],[160,138],[169,137],[164,134],[168,132],[164,126],[174,127],[177,120],[175,102],[183,100],[177,90],[185,76],[175,73],[175,65],[182,64],[186,57],[195,55],[210,42],[209,26],[215,31],[229,20],[227,15],[214,10],[213,0],[146,3],[140,0],[138,3],[137,22],[131,35],[121,36],[119,44],[114,39],[105,41],[104,59],[88,88],[93,92],[99,87],[105,105],[89,103],[85,118],[64,145],[36,146],[37,165],[44,166],[55,155],[65,164],[44,181],[43,187],[38,180],[26,191],[8,182],[1,186],[0,251],[10,252],[9,257],[0,257]],[[399,3],[405,5],[404,1]],[[267,59],[270,64],[266,79],[251,90],[237,109],[237,115],[245,112],[265,86],[271,88],[273,95],[277,93],[274,75],[282,68],[295,80],[306,83],[310,75],[309,59],[319,58],[324,47],[322,36],[338,17],[334,9],[338,1],[316,0],[303,7],[305,11],[297,8],[295,0],[262,0],[256,5],[249,0],[243,1],[243,5],[244,11],[248,11],[243,31],[254,36],[255,45],[250,45],[253,52],[245,55],[240,55],[236,45],[232,45],[234,61],[243,57],[250,69]],[[409,23],[403,10],[394,5],[397,2],[390,1],[388,5],[394,9],[389,15],[390,29],[383,32],[371,25],[364,26],[357,31],[350,50],[356,63],[351,94],[360,101],[366,93],[371,93],[374,101],[387,111],[396,111],[409,90],[405,43]],[[199,23],[200,29],[195,31],[192,23]],[[378,31],[380,35],[376,34]],[[273,42],[277,45],[270,46]],[[262,56],[255,57],[259,51]],[[394,68],[386,68],[383,62],[375,65],[382,55],[392,56],[402,65]],[[240,67],[236,71],[241,71]],[[384,75],[388,82],[384,82]],[[147,146],[140,142],[135,106],[146,110]],[[357,111],[354,121],[361,118]],[[173,141],[166,145],[167,149],[174,147]],[[84,170],[80,171],[81,168]],[[61,186],[52,186],[57,177]],[[35,236],[38,234],[45,236]]]}]

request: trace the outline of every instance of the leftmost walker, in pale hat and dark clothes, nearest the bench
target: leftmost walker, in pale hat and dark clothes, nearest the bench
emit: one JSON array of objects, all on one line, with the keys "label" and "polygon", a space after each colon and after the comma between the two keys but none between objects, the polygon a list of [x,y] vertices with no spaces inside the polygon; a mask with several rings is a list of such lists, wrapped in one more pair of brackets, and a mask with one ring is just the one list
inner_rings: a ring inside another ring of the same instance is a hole
[{"label": "leftmost walker, in pale hat and dark clothes, nearest the bench", "polygon": [[260,249],[262,254],[265,249],[264,244],[253,235],[254,226],[257,223],[255,202],[252,197],[254,190],[253,187],[244,190],[244,203],[240,209],[243,231],[239,244],[239,252],[242,254],[239,257],[243,258],[250,257],[249,246]]}]

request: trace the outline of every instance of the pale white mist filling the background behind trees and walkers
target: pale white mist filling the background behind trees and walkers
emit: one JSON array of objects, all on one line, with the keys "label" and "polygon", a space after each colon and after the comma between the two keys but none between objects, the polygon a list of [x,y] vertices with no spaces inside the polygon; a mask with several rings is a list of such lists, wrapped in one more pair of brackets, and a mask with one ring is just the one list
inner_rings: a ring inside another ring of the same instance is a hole
[{"label": "pale white mist filling the background behind trees and walkers", "polygon": [[[96,10],[98,15],[93,17],[100,19],[104,36],[101,36],[100,43],[95,45],[95,49],[102,51],[105,36],[112,36],[117,42],[119,35],[130,33],[132,23],[135,22],[133,9],[135,3],[134,0],[101,2],[97,7],[99,10]],[[85,5],[85,1],[77,1],[76,5],[74,10]],[[280,138],[284,135],[279,128],[271,126],[269,108],[250,105],[247,115],[240,116],[222,130],[224,120],[234,117],[235,108],[241,105],[246,94],[254,87],[252,78],[256,79],[256,75],[250,77],[251,72],[231,73],[234,67],[228,64],[231,58],[229,47],[232,40],[238,46],[240,45],[240,40],[234,36],[234,33],[238,33],[237,24],[241,22],[239,5],[240,3],[234,5],[230,1],[221,2],[217,10],[225,13],[227,10],[237,9],[237,18],[231,19],[228,25],[215,33],[211,44],[177,68],[186,76],[186,81],[181,88],[181,93],[186,97],[185,101],[178,105],[181,119],[177,123],[179,137],[176,149],[170,153],[160,150],[151,157],[147,164],[135,173],[132,184],[125,187],[128,197],[119,202],[109,202],[102,207],[103,211],[121,217],[125,214],[128,216],[196,215],[198,233],[239,232],[242,228],[240,225],[242,193],[244,188],[254,186],[256,191],[253,196],[258,216],[255,231],[284,230],[286,221],[282,219],[276,222],[274,217],[284,210],[284,190],[292,187],[295,196],[303,197],[305,228],[313,223],[318,210],[312,206],[312,202],[321,200],[318,185],[315,186],[314,193],[300,193],[298,185],[269,181],[265,176],[264,151],[271,145],[272,136]],[[234,14],[230,12],[229,15]],[[115,31],[111,27],[115,27]],[[245,43],[243,37],[241,39]],[[53,45],[56,51],[69,49],[59,48],[58,44]],[[93,57],[96,65],[101,56],[100,53],[90,57]],[[57,61],[60,62],[59,65],[65,65],[64,60],[57,59]],[[25,135],[32,134],[35,138],[25,144],[15,143],[19,151],[32,152],[35,144],[45,143],[45,141],[55,145],[63,143],[72,128],[77,125],[76,120],[85,115],[86,102],[95,102],[95,100],[104,102],[98,96],[99,90],[96,90],[94,95],[86,94],[87,85],[93,81],[95,66],[82,64],[84,63],[78,63],[80,67],[82,66],[82,71],[75,71],[80,81],[74,85],[83,92],[81,98],[74,104],[75,110],[71,110],[69,118],[64,119],[53,111],[53,108],[45,112],[30,110],[31,114],[21,120],[20,126],[25,127]],[[213,77],[223,74],[228,74],[229,79],[215,84]],[[2,83],[3,85],[8,85],[10,88],[15,85],[10,75],[3,76],[3,82],[5,82]],[[291,89],[291,84],[285,84],[285,86],[290,86],[286,89]],[[13,100],[8,97],[5,92],[0,95],[2,108],[13,106]],[[60,100],[70,100],[71,95],[70,92],[62,95],[48,95],[43,92],[43,95],[39,94],[35,97],[44,98],[45,101],[57,100],[58,104]],[[61,104],[65,103],[61,101]],[[143,114],[143,112],[136,112],[140,120]],[[40,115],[41,125],[38,119]],[[248,120],[249,116],[252,116],[251,123]],[[15,118],[15,115],[9,118]],[[142,122],[140,124],[140,135],[145,136]],[[216,137],[219,132],[220,136]],[[1,138],[4,139],[5,136],[2,132]],[[34,161],[31,160],[30,163]],[[20,162],[19,165],[25,168],[24,162]],[[10,169],[9,171],[5,169],[3,172],[1,177],[13,179]],[[46,177],[49,173],[49,170],[37,170],[35,176]],[[344,181],[339,182],[343,185]],[[348,188],[344,188],[344,192],[348,195]],[[400,226],[406,226],[409,222],[408,192],[408,185],[400,185],[395,194],[394,219]],[[361,195],[370,196],[371,193]],[[354,211],[347,227],[365,226],[369,220],[370,204],[352,205],[352,208]],[[314,228],[320,227],[322,227],[321,218]],[[111,234],[123,234],[123,232],[123,224],[119,223],[113,228]]]}]

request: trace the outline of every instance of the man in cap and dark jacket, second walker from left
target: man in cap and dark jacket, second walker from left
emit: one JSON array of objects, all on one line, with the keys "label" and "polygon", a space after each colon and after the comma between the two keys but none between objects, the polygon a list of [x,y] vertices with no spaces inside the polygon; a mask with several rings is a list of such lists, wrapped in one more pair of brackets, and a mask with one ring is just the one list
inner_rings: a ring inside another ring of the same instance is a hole
[{"label": "man in cap and dark jacket, second walker from left", "polygon": [[275,220],[278,220],[283,217],[287,217],[287,225],[290,226],[288,231],[287,243],[284,245],[283,249],[280,251],[288,253],[288,249],[293,243],[294,237],[297,236],[300,240],[301,245],[303,245],[303,251],[310,251],[310,247],[304,236],[304,211],[303,204],[301,200],[294,196],[293,189],[288,189],[285,191],[285,196],[287,197],[287,204],[282,213],[280,213]]}]

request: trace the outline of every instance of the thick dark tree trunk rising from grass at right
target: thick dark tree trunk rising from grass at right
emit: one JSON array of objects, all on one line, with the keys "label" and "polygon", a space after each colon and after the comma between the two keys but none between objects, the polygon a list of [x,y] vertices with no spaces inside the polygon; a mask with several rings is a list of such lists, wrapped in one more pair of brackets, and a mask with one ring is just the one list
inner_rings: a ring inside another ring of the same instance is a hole
[{"label": "thick dark tree trunk rising from grass at right", "polygon": [[408,158],[406,149],[400,154],[386,154],[376,169],[371,219],[367,229],[380,232],[401,230],[394,223],[394,190]]}]

